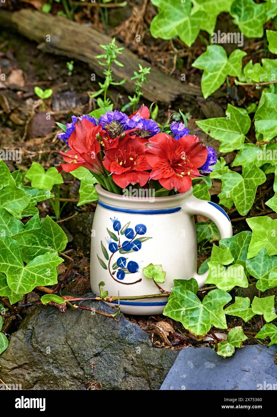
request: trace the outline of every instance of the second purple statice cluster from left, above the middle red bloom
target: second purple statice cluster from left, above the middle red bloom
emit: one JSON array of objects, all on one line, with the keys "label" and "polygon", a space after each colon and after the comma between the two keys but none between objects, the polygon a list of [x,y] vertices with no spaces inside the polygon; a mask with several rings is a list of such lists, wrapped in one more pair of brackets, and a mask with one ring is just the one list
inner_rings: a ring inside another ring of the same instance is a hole
[{"label": "second purple statice cluster from left, above the middle red bloom", "polygon": [[99,119],[99,124],[102,128],[108,131],[109,135],[113,138],[119,136],[123,131],[129,128],[130,119],[125,113],[121,111],[107,111]]}]

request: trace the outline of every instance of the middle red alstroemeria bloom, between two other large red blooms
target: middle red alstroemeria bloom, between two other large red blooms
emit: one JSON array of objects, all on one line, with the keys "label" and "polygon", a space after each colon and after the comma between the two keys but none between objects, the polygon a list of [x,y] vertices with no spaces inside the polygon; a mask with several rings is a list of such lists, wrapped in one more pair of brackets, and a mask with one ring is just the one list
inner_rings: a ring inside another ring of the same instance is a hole
[{"label": "middle red alstroemeria bloom, between two other large red blooms", "polygon": [[142,187],[148,181],[147,170],[151,166],[145,156],[146,142],[146,139],[135,137],[106,152],[103,165],[113,174],[113,181],[121,188],[126,188],[130,183],[139,183]]}]

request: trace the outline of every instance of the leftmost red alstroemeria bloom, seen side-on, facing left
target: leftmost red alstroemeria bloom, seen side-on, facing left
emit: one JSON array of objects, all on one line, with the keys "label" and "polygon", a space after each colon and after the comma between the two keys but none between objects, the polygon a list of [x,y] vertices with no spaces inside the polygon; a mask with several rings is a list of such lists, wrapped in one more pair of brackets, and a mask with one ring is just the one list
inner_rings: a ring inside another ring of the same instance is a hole
[{"label": "leftmost red alstroemeria bloom, seen side-on, facing left", "polygon": [[83,166],[89,170],[101,174],[103,166],[99,158],[98,152],[100,143],[96,135],[102,133],[101,126],[95,126],[93,123],[83,119],[75,123],[75,131],[68,139],[70,151],[67,153],[58,151],[63,156],[65,162],[56,167],[58,171],[71,172]]}]

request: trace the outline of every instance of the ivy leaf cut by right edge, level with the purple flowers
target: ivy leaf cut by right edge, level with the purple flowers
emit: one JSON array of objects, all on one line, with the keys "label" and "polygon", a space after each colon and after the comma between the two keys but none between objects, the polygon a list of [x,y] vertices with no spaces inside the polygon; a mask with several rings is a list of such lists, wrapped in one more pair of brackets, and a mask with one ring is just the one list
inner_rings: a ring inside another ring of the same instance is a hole
[{"label": "ivy leaf cut by right edge, level with the purple flowers", "polygon": [[264,141],[269,141],[277,135],[277,95],[263,93],[258,110],[255,113],[256,134],[260,133]]}]

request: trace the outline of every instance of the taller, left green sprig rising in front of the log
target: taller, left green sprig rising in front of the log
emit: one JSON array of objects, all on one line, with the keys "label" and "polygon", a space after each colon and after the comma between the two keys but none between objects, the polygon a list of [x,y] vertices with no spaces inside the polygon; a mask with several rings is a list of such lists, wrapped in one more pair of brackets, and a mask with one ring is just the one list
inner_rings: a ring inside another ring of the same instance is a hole
[{"label": "taller, left green sprig rising in front of the log", "polygon": [[98,83],[100,86],[100,90],[98,90],[96,93],[91,95],[91,97],[97,97],[100,94],[103,94],[104,96],[104,106],[109,106],[111,104],[111,100],[107,98],[107,91],[110,85],[122,85],[125,83],[126,79],[124,78],[119,83],[116,83],[114,81],[114,78],[112,77],[112,70],[111,65],[112,63],[115,63],[118,65],[118,67],[123,67],[124,65],[118,62],[116,59],[118,55],[122,54],[122,50],[124,48],[118,48],[116,45],[116,38],[113,38],[113,40],[108,45],[100,45],[101,48],[103,48],[104,53],[101,55],[96,55],[95,58],[97,59],[104,59],[104,62],[98,61],[100,65],[107,66],[108,68],[103,70],[103,74],[105,75],[105,81],[104,83]]}]

